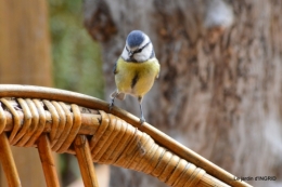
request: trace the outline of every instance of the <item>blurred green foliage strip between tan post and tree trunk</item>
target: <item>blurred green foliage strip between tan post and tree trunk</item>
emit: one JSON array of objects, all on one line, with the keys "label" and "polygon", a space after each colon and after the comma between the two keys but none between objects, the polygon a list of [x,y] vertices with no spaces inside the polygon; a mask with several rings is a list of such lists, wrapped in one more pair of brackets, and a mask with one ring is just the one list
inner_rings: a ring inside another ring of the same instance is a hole
[{"label": "blurred green foliage strip between tan post and tree trunk", "polygon": [[81,0],[49,0],[56,88],[103,98],[101,49],[84,28]]}]

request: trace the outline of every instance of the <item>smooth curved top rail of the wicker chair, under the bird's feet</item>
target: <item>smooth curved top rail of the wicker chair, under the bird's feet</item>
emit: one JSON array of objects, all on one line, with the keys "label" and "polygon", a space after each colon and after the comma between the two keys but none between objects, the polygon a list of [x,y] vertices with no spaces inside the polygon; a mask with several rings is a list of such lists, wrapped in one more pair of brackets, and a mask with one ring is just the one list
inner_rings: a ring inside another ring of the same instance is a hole
[{"label": "smooth curved top rail of the wicker chair, under the bird's feet", "polygon": [[[181,158],[190,161],[191,163],[204,169],[208,174],[217,177],[218,179],[231,185],[231,186],[249,186],[248,184],[235,181],[234,175],[217,166],[205,158],[201,157],[193,150],[184,147],[180,143],[176,142],[171,137],[167,136],[163,132],[158,131],[149,123],[140,125],[139,118],[133,115],[114,107],[111,111],[108,110],[108,104],[93,98],[84,94],[62,91],[56,89],[40,88],[40,86],[27,86],[27,85],[0,85],[0,96],[22,96],[22,97],[37,97],[41,99],[57,99],[66,103],[76,103],[78,105],[103,109],[106,112],[111,112],[126,122],[139,128],[142,132],[148,133],[154,141],[168,148],[172,152],[177,152]],[[90,145],[91,147],[91,145]]]}]

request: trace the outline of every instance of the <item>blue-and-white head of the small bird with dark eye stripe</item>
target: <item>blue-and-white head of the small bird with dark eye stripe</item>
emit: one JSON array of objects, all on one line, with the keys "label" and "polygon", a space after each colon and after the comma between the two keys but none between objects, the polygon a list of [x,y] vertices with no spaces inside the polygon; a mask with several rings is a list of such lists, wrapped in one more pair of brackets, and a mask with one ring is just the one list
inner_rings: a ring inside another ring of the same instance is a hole
[{"label": "blue-and-white head of the small bird with dark eye stripe", "polygon": [[142,63],[154,56],[150,38],[141,30],[131,31],[126,39],[121,57],[128,62]]}]

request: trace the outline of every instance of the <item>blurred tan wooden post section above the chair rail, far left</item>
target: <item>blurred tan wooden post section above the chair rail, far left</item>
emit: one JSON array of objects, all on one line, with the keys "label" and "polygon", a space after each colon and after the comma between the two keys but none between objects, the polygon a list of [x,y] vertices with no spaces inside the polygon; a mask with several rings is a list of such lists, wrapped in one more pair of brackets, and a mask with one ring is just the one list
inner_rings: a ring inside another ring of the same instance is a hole
[{"label": "blurred tan wooden post section above the chair rail, far left", "polygon": [[0,82],[51,85],[48,4],[0,0]]}]

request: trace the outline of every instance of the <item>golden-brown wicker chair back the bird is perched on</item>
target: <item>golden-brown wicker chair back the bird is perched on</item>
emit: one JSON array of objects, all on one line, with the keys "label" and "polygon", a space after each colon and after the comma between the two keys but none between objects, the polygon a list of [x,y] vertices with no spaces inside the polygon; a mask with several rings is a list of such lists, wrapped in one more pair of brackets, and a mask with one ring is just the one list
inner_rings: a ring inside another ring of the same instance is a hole
[{"label": "golden-brown wicker chair back the bird is perched on", "polygon": [[249,186],[125,110],[63,90],[0,85],[0,161],[9,186],[18,187],[11,145],[38,148],[48,187],[60,186],[52,151],[76,155],[87,187],[98,186],[93,162],[168,186]]}]

